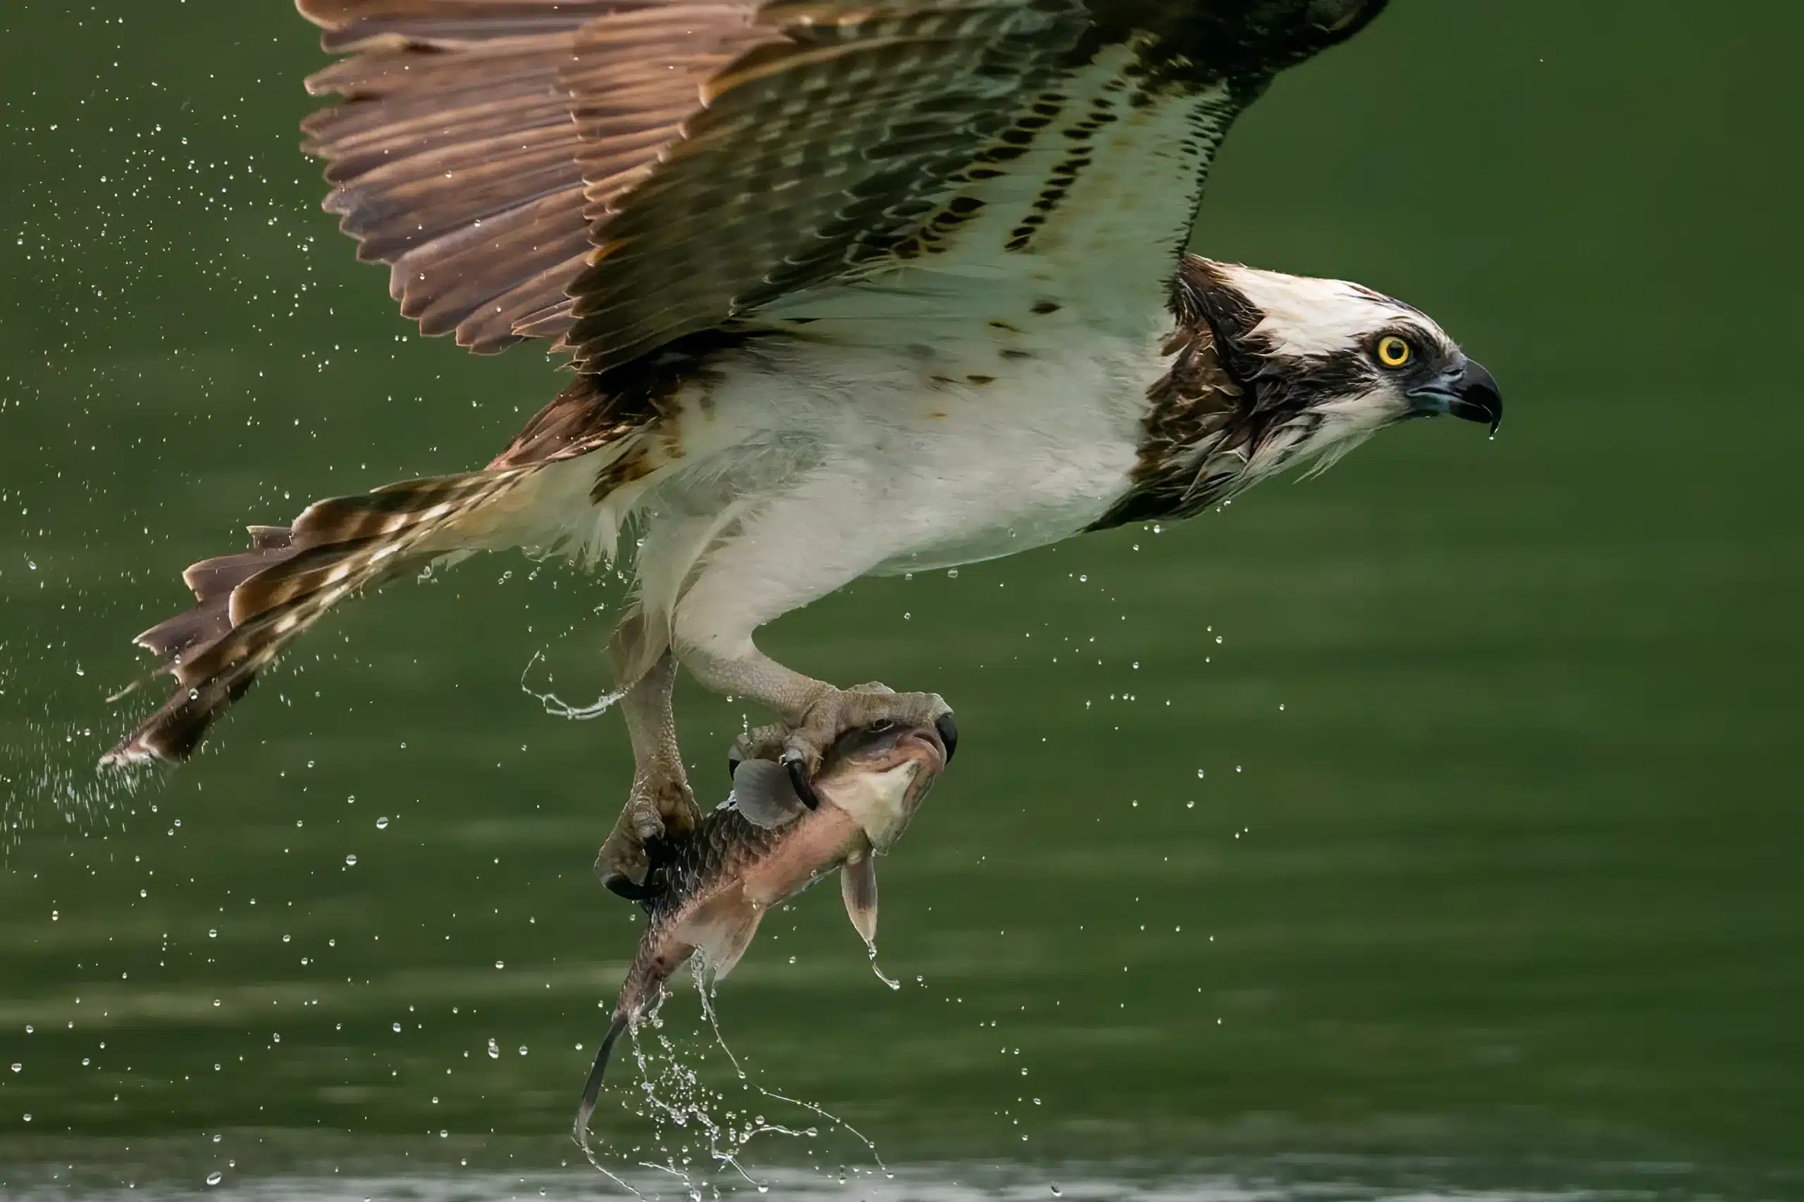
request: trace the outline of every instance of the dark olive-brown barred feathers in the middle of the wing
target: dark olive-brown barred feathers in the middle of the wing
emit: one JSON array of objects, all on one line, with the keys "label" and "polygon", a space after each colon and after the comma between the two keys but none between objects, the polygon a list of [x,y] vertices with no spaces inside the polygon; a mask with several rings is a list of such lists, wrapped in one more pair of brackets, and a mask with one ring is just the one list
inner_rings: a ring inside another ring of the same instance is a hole
[{"label": "dark olive-brown barred feathers in the middle of the wing", "polygon": [[[597,213],[566,343],[606,370],[913,229],[1088,25],[1079,0],[776,0],[761,40]],[[592,31],[584,31],[584,38]]]}]

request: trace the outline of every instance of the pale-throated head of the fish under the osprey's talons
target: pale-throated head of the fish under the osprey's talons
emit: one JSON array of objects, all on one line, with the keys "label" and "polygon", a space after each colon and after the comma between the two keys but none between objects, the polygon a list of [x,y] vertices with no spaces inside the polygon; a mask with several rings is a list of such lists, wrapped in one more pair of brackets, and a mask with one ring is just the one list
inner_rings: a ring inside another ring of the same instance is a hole
[{"label": "pale-throated head of the fish under the osprey's talons", "polygon": [[933,724],[882,718],[846,731],[828,747],[814,791],[846,810],[873,850],[886,852],[940,780],[945,762],[945,738]]}]

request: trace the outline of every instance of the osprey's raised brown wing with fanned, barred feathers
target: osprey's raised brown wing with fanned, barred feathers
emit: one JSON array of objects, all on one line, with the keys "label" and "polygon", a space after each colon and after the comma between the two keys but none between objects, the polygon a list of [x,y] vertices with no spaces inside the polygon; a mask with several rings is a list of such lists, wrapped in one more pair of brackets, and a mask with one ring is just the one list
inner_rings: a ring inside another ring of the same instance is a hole
[{"label": "osprey's raised brown wing with fanned, barred feathers", "polygon": [[1384,2],[298,0],[352,54],[308,81],[346,103],[307,148],[424,332],[561,337],[599,372],[931,238],[1120,47],[1137,96],[1212,92],[1200,175],[1279,69]]}]

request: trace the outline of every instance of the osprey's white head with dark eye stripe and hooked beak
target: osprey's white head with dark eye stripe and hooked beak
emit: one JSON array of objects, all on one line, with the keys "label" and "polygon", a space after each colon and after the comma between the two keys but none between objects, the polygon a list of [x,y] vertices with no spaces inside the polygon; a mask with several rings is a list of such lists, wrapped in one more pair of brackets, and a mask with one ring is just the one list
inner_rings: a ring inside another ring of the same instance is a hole
[{"label": "osprey's white head with dark eye stripe and hooked beak", "polygon": [[1180,307],[1238,393],[1239,484],[1333,462],[1371,433],[1449,413],[1497,430],[1497,381],[1423,312],[1357,283],[1191,256]]}]

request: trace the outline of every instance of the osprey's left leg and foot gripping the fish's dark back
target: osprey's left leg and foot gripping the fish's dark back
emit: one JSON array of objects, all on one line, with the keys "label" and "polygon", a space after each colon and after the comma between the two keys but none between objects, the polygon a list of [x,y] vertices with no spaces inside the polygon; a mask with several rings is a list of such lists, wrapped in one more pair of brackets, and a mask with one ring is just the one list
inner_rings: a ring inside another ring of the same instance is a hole
[{"label": "osprey's left leg and foot gripping the fish's dark back", "polygon": [[[622,679],[631,679],[639,626],[637,615],[628,619],[610,644]],[[657,848],[682,839],[702,821],[676,751],[676,718],[671,713],[675,684],[676,659],[666,650],[621,698],[626,733],[633,740],[633,791],[626,796],[626,809],[621,810],[613,834],[601,845],[595,875],[631,901],[646,901],[658,892],[648,845]]]}]

